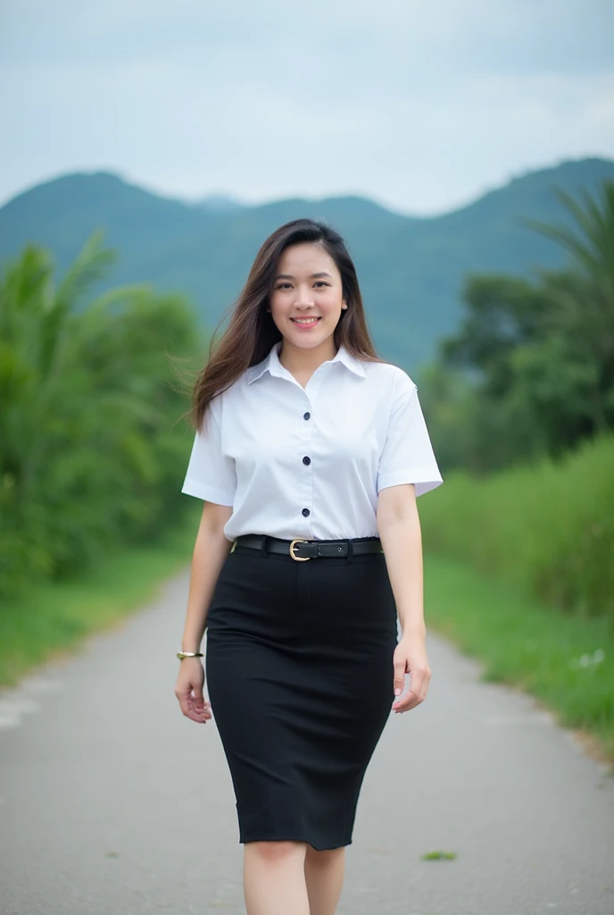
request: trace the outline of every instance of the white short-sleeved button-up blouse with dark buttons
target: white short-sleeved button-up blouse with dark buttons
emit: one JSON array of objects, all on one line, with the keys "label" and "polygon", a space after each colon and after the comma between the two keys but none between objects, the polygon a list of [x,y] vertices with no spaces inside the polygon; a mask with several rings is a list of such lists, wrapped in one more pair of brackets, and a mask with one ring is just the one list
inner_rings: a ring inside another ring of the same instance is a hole
[{"label": "white short-sleeved button-up blouse with dark buttons", "polygon": [[377,536],[377,493],[442,482],[416,385],[343,346],[303,388],[281,340],[211,401],[182,492],[233,506],[224,533],[291,540]]}]

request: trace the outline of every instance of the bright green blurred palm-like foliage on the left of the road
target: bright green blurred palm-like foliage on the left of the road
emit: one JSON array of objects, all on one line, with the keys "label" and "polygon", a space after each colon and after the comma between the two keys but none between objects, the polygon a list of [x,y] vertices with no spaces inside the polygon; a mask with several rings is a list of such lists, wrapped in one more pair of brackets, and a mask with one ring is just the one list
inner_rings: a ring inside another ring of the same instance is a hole
[{"label": "bright green blurred palm-like foliage on the left of the road", "polygon": [[0,279],[0,595],[154,541],[185,511],[193,432],[176,361],[200,334],[178,296],[124,286],[88,301],[114,258],[95,233],[58,284],[28,245]]}]

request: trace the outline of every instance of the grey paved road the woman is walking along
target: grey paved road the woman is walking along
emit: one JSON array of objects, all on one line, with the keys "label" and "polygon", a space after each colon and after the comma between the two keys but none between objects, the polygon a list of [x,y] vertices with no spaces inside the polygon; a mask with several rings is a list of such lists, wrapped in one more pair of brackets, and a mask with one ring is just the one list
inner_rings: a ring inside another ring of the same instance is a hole
[{"label": "grey paved road the woman is walking along", "polygon": [[[244,912],[217,730],[173,694],[186,594],[184,573],[0,694],[2,915]],[[612,915],[614,778],[434,635],[429,660],[367,772],[339,915]]]}]

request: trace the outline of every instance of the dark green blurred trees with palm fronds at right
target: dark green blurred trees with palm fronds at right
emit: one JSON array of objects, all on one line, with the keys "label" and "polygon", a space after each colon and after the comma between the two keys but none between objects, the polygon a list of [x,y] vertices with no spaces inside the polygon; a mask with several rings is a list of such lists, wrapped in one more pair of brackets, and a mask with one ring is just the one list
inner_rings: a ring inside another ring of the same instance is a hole
[{"label": "dark green blurred trees with palm fronds at right", "polygon": [[469,275],[460,330],[421,376],[443,468],[556,458],[614,428],[614,181],[556,196],[568,224],[527,224],[566,249],[566,268]]}]

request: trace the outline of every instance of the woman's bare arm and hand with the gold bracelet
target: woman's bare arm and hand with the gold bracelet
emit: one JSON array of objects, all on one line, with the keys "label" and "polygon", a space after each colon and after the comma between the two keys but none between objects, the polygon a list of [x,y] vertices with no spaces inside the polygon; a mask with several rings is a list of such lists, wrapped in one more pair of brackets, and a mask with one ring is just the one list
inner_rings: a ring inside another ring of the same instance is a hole
[{"label": "woman's bare arm and hand with the gold bracelet", "polygon": [[[231,514],[229,505],[205,502],[203,506],[192,554],[182,651],[200,651],[217,578],[232,549],[232,542],[224,534],[224,525]],[[184,715],[200,724],[205,724],[211,717],[210,705],[203,695],[204,685],[205,669],[201,659],[184,658],[180,662],[175,695]]]}]

